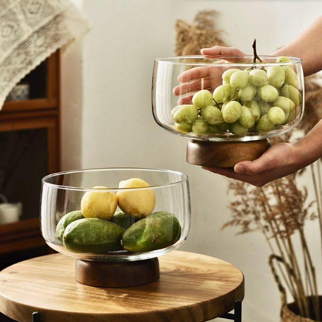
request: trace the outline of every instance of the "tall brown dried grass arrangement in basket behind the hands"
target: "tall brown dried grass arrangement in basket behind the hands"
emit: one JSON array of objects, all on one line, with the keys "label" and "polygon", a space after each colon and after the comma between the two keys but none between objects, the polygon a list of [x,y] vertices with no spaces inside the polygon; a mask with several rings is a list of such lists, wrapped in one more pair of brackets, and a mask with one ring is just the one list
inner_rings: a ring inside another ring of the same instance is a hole
[{"label": "tall brown dried grass arrangement in basket behind the hands", "polygon": [[[225,45],[220,37],[221,31],[215,28],[216,14],[215,11],[199,12],[191,24],[177,20],[175,24],[177,55],[195,55],[200,53],[201,48]],[[299,138],[308,133],[320,119],[322,119],[320,78],[306,77],[303,120],[295,131],[274,137],[271,143],[289,142],[294,134]],[[272,273],[282,293],[284,322],[308,322],[312,321],[311,319],[322,321],[322,297],[319,296],[317,274],[304,231],[306,220],[318,219],[322,245],[321,162],[319,160],[306,168],[311,171],[315,191],[315,200],[310,203],[307,200],[307,188],[300,188],[296,180],[305,169],[259,188],[229,180],[229,191],[235,196],[235,201],[230,204],[232,220],[225,223],[224,227],[240,227],[238,234],[255,230],[263,233],[272,253],[269,259]],[[293,240],[295,237],[299,237],[301,249],[295,248]],[[287,305],[287,292],[283,285],[294,300],[292,311]]]}]

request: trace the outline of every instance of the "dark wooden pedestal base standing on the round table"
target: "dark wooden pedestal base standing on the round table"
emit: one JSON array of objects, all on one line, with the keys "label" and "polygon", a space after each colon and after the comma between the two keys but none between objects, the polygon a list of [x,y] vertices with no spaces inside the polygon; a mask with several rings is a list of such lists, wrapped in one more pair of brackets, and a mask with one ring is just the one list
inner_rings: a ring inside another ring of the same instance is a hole
[{"label": "dark wooden pedestal base standing on the round table", "polygon": [[90,286],[127,288],[154,282],[159,277],[159,261],[156,257],[115,263],[76,260],[76,281]]}]

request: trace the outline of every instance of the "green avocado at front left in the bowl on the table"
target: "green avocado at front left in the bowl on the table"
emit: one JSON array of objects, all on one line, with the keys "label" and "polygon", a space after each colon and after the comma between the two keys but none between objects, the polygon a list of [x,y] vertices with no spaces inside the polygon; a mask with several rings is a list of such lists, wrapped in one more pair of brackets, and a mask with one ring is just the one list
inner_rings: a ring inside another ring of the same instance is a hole
[{"label": "green avocado at front left in the bowl on the table", "polygon": [[104,253],[122,249],[124,228],[99,218],[84,218],[71,222],[65,229],[63,244],[73,253]]}]

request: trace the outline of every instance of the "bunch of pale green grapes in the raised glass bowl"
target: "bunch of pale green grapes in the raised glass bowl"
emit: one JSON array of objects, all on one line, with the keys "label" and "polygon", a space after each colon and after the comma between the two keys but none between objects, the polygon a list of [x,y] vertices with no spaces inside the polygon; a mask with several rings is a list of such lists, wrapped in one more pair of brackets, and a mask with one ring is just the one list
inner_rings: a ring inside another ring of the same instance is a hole
[{"label": "bunch of pale green grapes in the raised glass bowl", "polygon": [[[279,57],[276,62],[288,62]],[[227,131],[236,136],[267,133],[295,119],[295,107],[302,103],[299,80],[293,68],[274,65],[245,70],[231,68],[222,74],[222,85],[213,94],[203,89],[192,104],[171,111],[178,132],[213,136]]]}]

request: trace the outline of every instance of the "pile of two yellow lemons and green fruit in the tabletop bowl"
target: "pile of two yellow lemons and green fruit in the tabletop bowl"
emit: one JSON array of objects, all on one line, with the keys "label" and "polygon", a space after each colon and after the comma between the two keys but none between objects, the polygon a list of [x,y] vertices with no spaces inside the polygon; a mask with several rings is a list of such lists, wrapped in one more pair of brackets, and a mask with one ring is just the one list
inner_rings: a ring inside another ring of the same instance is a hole
[{"label": "pile of two yellow lemons and green fruit in the tabletop bowl", "polygon": [[[81,211],[64,215],[57,223],[56,237],[72,253],[131,252],[159,250],[176,243],[181,236],[179,220],[168,211],[153,213],[155,193],[139,178],[119,183],[116,194],[105,186],[87,191]],[[131,189],[134,188],[132,191]],[[122,211],[117,211],[117,206]]]}]

